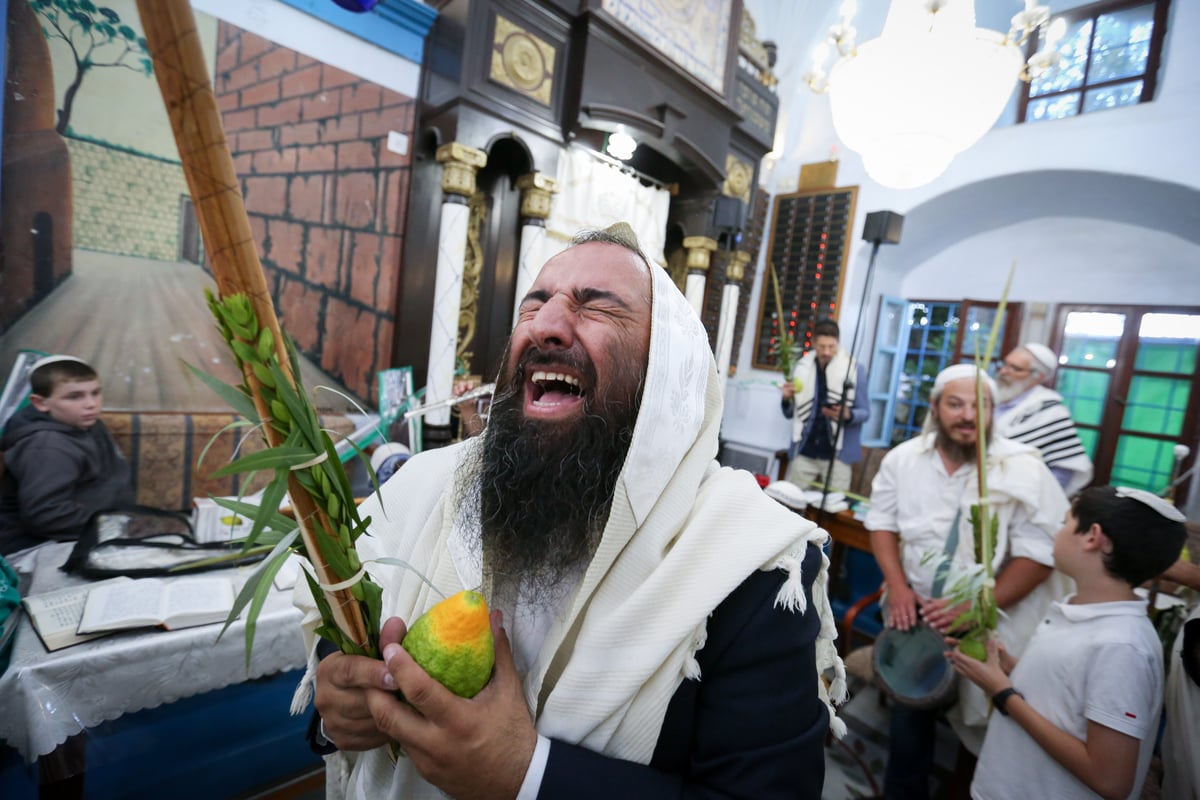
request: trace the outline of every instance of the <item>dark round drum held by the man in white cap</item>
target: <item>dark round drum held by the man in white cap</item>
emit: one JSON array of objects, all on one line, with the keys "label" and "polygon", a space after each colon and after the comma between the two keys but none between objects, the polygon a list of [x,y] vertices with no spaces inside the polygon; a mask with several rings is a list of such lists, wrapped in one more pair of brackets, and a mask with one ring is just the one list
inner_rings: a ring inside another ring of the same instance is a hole
[{"label": "dark round drum held by the man in white cap", "polygon": [[946,642],[928,625],[883,628],[875,638],[872,660],[877,682],[901,705],[935,709],[955,697],[958,676],[946,658]]}]

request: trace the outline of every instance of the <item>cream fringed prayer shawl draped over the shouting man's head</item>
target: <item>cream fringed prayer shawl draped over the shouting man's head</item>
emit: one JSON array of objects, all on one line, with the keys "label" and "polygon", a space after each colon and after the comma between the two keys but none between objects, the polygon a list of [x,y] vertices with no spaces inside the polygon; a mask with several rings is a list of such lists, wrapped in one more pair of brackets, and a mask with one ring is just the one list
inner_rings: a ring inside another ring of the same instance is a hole
[{"label": "cream fringed prayer shawl draped over the shouting man's head", "polygon": [[[703,679],[695,654],[709,614],[755,570],[781,570],[776,603],[820,615],[816,666],[833,669],[835,680],[828,691],[818,687],[840,735],[845,726],[829,703],[845,698],[845,672],[833,644],[828,560],[814,584],[814,609],[805,609],[800,576],[808,543],[828,535],[767,498],[750,474],[716,465],[724,402],[716,365],[695,312],[664,270],[653,272],[647,384],[608,522],[565,616],[551,624],[523,676],[538,730],[649,763],[679,684]],[[374,499],[364,504],[372,517],[371,536],[359,542],[364,560],[403,559],[445,594],[478,585],[478,573],[455,566],[469,559],[451,486],[475,446],[415,456],[383,486],[383,510]],[[384,588],[384,618],[413,620],[439,599],[407,570],[371,571]],[[443,796],[383,748],[349,758],[347,796]]]}]

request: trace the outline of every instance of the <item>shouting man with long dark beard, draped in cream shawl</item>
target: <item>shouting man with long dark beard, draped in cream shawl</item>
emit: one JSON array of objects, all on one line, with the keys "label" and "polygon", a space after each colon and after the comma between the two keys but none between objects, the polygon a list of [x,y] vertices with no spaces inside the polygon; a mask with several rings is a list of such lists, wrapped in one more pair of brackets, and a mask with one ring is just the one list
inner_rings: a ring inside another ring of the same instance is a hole
[{"label": "shouting man with long dark beard, draped in cream shawl", "polygon": [[[826,534],[714,462],[721,405],[700,320],[631,231],[547,261],[484,433],[413,457],[364,509],[364,560],[413,570],[371,567],[402,618],[384,661],[317,669],[347,796],[821,795],[845,691]],[[426,579],[493,608],[496,667],[472,699],[396,644],[438,600]]]}]

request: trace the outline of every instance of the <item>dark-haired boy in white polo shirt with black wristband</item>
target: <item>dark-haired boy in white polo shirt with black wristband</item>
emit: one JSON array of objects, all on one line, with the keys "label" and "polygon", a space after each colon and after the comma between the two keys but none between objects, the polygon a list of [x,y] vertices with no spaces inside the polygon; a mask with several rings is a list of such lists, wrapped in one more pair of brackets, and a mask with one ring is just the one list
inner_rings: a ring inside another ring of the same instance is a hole
[{"label": "dark-haired boy in white polo shirt with black wristband", "polygon": [[1140,795],[1163,703],[1163,646],[1133,589],[1180,557],[1183,521],[1150,492],[1085,489],[1054,547],[1078,591],[1050,608],[1020,663],[995,642],[986,662],[947,654],[997,711],[972,798]]}]

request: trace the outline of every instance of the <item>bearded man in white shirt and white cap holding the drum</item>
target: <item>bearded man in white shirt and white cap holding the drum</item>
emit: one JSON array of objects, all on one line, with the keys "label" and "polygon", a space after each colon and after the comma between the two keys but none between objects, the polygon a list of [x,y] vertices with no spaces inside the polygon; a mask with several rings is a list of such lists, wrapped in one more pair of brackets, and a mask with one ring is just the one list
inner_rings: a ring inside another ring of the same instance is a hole
[{"label": "bearded man in white shirt and white cap holding the drum", "polygon": [[[989,507],[1000,521],[992,565],[996,603],[1003,610],[997,633],[1008,651],[1020,656],[1043,610],[1068,588],[1054,572],[1055,534],[1068,504],[1033,447],[990,435],[996,387],[986,374],[982,386],[988,419],[980,426],[977,372],[972,365],[956,365],[937,375],[925,432],[883,457],[864,524],[883,572],[887,625],[906,631],[924,624],[950,632],[964,609],[942,596],[949,581],[938,567],[953,565],[953,575],[954,567],[977,563],[970,507],[979,501],[976,447],[982,428]],[[937,716],[937,710],[893,704],[884,796],[929,796]],[[983,692],[960,680],[959,702],[948,717],[964,746],[978,753],[988,723]]]}]

